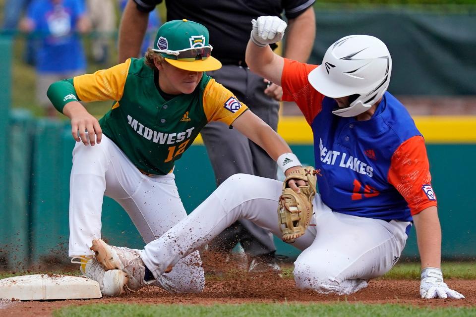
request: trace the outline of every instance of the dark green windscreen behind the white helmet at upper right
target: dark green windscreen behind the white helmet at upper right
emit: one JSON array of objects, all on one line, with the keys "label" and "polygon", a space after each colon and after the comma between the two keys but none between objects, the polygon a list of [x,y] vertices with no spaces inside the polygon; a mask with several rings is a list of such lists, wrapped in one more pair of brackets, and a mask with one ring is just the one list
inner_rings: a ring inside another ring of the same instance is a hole
[{"label": "dark green windscreen behind the white helmet at upper right", "polygon": [[351,34],[381,39],[392,54],[394,95],[475,95],[476,6],[316,7],[310,63]]}]

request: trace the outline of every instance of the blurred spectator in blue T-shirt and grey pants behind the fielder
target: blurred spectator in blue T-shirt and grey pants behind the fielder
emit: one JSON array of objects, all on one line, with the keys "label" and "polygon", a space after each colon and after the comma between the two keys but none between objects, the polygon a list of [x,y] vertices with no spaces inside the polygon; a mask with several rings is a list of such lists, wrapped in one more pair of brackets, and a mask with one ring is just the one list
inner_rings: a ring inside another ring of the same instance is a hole
[{"label": "blurred spectator in blue T-shirt and grey pants behind the fielder", "polygon": [[24,32],[40,37],[36,56],[36,98],[50,117],[57,111],[46,96],[54,82],[86,71],[86,58],[78,33],[88,32],[84,0],[33,0],[20,22]]}]

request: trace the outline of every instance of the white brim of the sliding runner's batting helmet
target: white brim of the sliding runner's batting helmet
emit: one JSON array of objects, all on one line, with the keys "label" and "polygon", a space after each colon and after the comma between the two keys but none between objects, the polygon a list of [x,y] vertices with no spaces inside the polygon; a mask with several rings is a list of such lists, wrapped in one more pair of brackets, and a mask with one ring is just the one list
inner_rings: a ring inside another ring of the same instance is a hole
[{"label": "white brim of the sliding runner's batting helmet", "polygon": [[307,80],[315,90],[330,98],[341,98],[355,94],[348,86],[332,81],[324,65],[311,70],[307,75]]}]

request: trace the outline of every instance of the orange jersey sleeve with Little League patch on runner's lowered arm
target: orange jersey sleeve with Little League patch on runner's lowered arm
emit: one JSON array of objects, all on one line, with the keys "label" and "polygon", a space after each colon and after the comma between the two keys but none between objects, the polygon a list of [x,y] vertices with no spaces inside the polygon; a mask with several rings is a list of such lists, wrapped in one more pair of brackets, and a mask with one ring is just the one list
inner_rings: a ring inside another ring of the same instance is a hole
[{"label": "orange jersey sleeve with Little League patch on runner's lowered arm", "polygon": [[436,206],[423,137],[414,136],[398,147],[390,163],[388,181],[405,198],[412,215]]}]

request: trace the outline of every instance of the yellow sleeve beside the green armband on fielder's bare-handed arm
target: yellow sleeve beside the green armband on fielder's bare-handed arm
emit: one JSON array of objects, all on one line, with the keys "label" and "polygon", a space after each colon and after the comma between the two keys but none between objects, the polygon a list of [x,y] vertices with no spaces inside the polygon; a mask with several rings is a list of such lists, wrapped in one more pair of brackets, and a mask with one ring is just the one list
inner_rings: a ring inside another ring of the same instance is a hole
[{"label": "yellow sleeve beside the green armband on fielder's bare-handed arm", "polygon": [[124,63],[108,69],[98,70],[94,74],[85,74],[73,78],[73,85],[81,101],[100,100],[119,101],[124,93],[125,79],[129,71],[130,58]]}]

